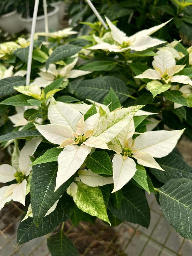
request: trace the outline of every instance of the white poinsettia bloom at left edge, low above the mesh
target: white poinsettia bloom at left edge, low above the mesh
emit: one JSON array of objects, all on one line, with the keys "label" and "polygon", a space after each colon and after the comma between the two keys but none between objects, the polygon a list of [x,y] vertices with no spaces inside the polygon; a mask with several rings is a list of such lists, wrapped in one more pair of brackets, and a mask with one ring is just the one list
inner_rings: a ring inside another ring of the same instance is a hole
[{"label": "white poinsettia bloom at left edge, low above the mesh", "polygon": [[25,205],[25,195],[29,192],[26,192],[27,176],[32,170],[29,166],[32,163],[29,156],[34,154],[41,141],[41,137],[32,138],[21,151],[18,148],[14,150],[12,165],[2,164],[0,166],[0,182],[17,181],[17,183],[0,188],[0,209],[11,200]]}]

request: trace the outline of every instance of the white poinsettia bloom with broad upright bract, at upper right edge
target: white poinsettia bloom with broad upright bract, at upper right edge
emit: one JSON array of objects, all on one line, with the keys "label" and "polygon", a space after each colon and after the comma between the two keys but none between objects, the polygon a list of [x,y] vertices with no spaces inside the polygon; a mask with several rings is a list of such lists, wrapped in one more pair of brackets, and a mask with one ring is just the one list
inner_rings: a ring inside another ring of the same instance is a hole
[{"label": "white poinsettia bloom with broad upright bract, at upper right edge", "polygon": [[142,74],[135,76],[135,78],[149,78],[152,80],[163,80],[166,84],[171,82],[184,83],[192,85],[192,80],[184,75],[174,74],[181,71],[185,65],[176,65],[175,59],[171,52],[161,49],[157,52],[157,56],[154,56],[152,62],[154,69],[147,69]]}]

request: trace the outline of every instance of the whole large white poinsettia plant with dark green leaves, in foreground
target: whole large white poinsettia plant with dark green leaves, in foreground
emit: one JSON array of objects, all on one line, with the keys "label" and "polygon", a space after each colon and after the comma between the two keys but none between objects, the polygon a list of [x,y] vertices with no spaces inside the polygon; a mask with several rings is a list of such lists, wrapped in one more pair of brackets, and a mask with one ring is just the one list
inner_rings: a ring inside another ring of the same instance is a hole
[{"label": "whole large white poinsettia plant with dark green leaves, in foreground", "polygon": [[0,45],[0,142],[11,153],[0,207],[26,205],[18,245],[60,225],[50,252],[78,255],[63,234],[68,219],[147,228],[144,191],[192,239],[192,168],[175,148],[183,134],[192,139],[191,48],[153,37],[169,21],[131,36],[106,21],[108,30],[90,24],[84,36],[38,33],[27,85],[30,38]]}]

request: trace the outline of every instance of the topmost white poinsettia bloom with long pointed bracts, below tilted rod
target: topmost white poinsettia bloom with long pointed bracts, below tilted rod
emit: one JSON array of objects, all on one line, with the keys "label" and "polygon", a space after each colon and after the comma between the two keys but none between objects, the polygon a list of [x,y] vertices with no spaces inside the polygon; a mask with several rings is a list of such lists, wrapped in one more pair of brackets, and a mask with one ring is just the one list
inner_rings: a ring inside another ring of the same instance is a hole
[{"label": "topmost white poinsettia bloom with long pointed bracts, below tilted rod", "polygon": [[107,17],[106,21],[111,29],[111,32],[107,32],[102,38],[94,36],[97,44],[91,47],[87,47],[87,49],[101,49],[110,52],[124,52],[126,50],[143,51],[147,48],[166,43],[166,41],[162,41],[157,38],[151,38],[150,35],[165,26],[169,21],[149,29],[141,30],[132,36],[127,36]]}]

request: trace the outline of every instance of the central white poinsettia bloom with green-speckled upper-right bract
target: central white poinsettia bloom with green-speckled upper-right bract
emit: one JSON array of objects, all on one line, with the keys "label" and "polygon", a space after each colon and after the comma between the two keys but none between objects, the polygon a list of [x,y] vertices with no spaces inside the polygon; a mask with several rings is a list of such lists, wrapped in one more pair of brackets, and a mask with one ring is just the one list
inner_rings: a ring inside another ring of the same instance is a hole
[{"label": "central white poinsettia bloom with green-speckled upper-right bract", "polygon": [[102,116],[97,113],[84,120],[79,111],[52,99],[48,108],[51,124],[34,125],[47,140],[65,147],[58,156],[55,190],[75,174],[92,148],[109,149],[106,143],[129,124],[141,107],[132,106]]}]

